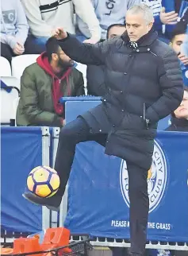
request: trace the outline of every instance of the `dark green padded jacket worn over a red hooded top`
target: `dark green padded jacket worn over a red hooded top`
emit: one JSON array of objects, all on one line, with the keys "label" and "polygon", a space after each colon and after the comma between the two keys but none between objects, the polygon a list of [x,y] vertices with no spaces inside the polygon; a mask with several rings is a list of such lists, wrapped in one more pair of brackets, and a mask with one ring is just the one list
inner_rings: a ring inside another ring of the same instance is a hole
[{"label": "dark green padded jacket worn over a red hooded top", "polygon": [[[71,96],[84,95],[82,73],[72,68],[68,77]],[[21,98],[17,107],[17,126],[62,126],[63,114],[56,114],[52,100],[53,78],[35,63],[21,76]],[[67,80],[61,80],[61,91],[68,95]]]}]

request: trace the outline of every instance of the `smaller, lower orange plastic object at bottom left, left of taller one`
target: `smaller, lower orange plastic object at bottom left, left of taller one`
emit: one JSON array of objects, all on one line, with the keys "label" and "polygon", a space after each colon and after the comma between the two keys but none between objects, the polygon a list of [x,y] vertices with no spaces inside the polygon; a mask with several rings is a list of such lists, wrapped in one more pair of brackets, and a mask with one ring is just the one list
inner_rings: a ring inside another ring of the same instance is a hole
[{"label": "smaller, lower orange plastic object at bottom left, left of taller one", "polygon": [[[20,238],[13,241],[13,254],[23,254],[41,250],[39,239],[37,238]],[[33,254],[30,254],[33,255]],[[35,256],[42,256],[42,254],[35,254]]]}]

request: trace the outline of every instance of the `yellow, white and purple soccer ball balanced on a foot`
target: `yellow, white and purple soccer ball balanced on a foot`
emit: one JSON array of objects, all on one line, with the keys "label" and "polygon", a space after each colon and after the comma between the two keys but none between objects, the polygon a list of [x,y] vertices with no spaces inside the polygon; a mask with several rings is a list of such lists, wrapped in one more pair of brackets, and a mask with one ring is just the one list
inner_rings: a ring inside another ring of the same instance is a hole
[{"label": "yellow, white and purple soccer ball balanced on a foot", "polygon": [[50,197],[56,194],[60,180],[55,169],[49,166],[37,166],[27,178],[27,186],[30,192],[36,196]]}]

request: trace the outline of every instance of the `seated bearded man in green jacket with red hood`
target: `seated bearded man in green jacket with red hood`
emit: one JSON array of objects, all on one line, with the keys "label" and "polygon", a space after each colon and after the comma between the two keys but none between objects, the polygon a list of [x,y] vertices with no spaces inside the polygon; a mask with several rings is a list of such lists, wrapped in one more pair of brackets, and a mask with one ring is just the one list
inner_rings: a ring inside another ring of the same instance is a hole
[{"label": "seated bearded man in green jacket with red hood", "polygon": [[74,61],[51,37],[35,64],[21,76],[21,98],[17,126],[63,126],[64,107],[59,99],[84,94],[82,73],[72,68]]}]

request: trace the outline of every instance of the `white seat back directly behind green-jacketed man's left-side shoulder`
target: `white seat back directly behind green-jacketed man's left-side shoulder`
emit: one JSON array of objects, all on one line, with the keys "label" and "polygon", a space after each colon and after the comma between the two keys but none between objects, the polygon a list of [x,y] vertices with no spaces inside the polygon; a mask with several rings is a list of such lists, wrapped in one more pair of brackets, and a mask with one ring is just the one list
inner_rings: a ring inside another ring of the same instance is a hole
[{"label": "white seat back directly behind green-jacketed man's left-side shoulder", "polygon": [[20,80],[25,68],[35,63],[38,56],[39,54],[25,54],[13,57],[12,76]]}]

